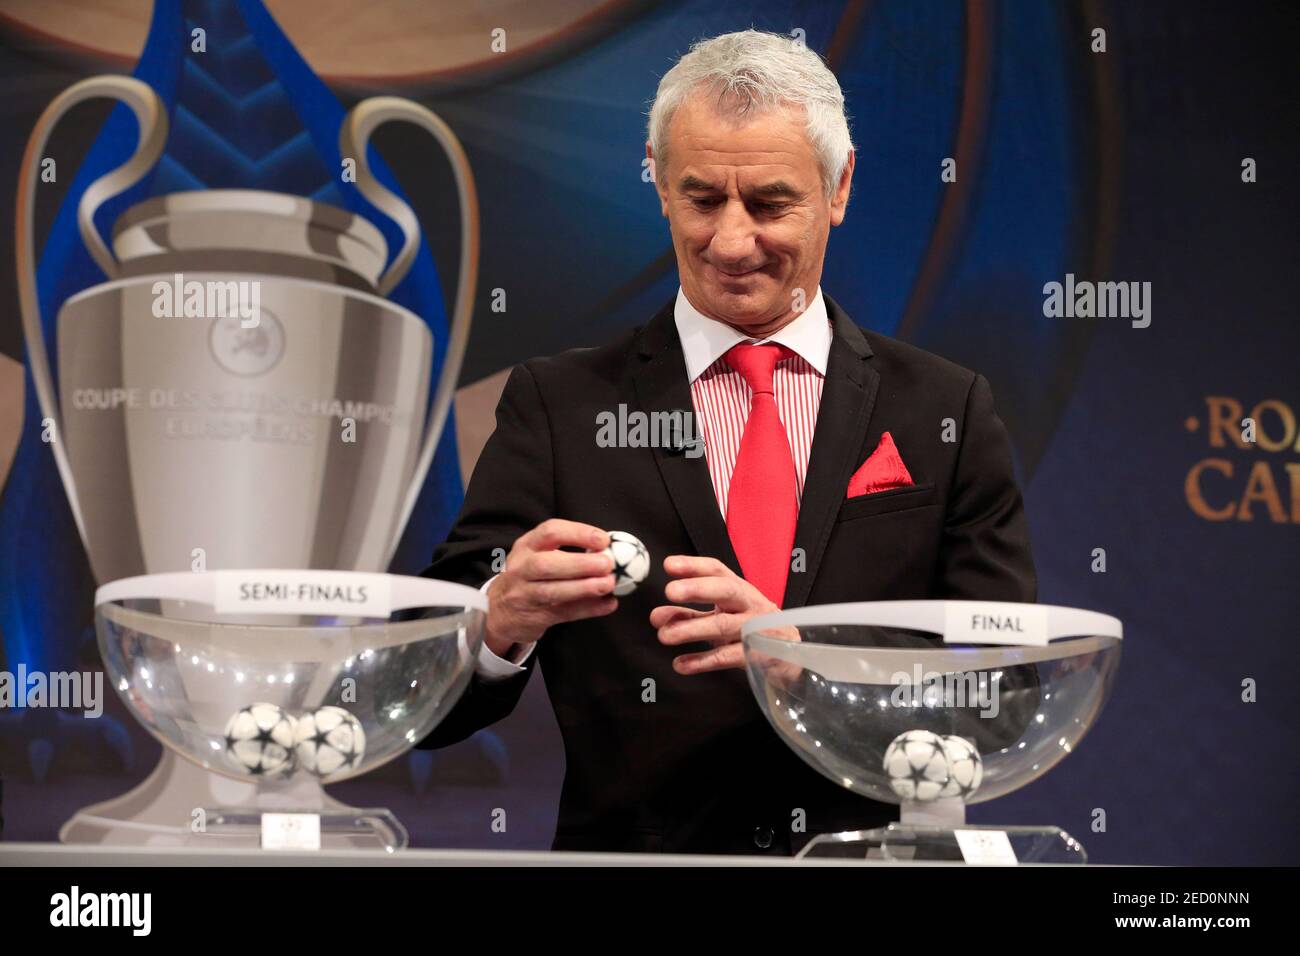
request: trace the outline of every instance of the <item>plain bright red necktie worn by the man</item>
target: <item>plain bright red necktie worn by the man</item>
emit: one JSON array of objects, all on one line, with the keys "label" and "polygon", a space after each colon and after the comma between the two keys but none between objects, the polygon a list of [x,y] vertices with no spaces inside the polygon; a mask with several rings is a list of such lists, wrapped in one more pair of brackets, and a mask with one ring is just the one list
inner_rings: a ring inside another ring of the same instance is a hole
[{"label": "plain bright red necktie worn by the man", "polygon": [[727,489],[727,533],[745,580],[777,607],[785,597],[800,512],[794,457],[772,386],[776,363],[788,354],[779,345],[737,345],[724,356],[754,393]]}]

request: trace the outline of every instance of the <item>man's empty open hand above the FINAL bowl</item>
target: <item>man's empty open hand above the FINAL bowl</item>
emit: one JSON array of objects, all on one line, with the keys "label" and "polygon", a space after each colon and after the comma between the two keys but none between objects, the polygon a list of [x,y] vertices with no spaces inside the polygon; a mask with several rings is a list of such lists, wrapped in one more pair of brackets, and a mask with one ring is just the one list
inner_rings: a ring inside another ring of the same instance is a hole
[{"label": "man's empty open hand above the FINAL bowl", "polygon": [[670,646],[708,641],[710,650],[680,654],[672,669],[679,674],[705,674],[745,666],[745,649],[740,628],[757,614],[779,611],[775,604],[744,578],[738,578],[716,558],[694,558],[673,554],[663,561],[670,578],[664,597],[682,604],[711,604],[714,610],[662,605],[650,611],[650,627],[659,632],[659,641]]}]

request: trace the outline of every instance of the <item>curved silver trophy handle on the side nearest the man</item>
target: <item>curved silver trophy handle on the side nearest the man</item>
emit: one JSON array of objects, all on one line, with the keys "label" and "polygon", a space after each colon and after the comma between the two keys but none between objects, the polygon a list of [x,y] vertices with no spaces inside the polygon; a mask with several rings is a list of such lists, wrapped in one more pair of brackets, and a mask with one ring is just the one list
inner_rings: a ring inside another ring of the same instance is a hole
[{"label": "curved silver trophy handle on the side nearest the man", "polygon": [[460,378],[460,365],[465,358],[465,346],[469,342],[469,323],[473,319],[474,284],[478,280],[478,194],[474,190],[474,176],[469,168],[460,140],[436,113],[425,109],[419,103],[404,100],[396,96],[372,96],[361,100],[343,118],[343,125],[338,134],[339,153],[356,160],[356,186],[376,208],[402,228],[406,237],[402,250],[393,259],[387,271],[380,277],[380,295],[387,295],[404,277],[415,255],[420,248],[420,222],[416,220],[411,207],[402,199],[385,189],[370,172],[365,150],[374,130],[390,121],[406,120],[430,133],[442,146],[451,163],[451,172],[456,179],[456,193],[460,199],[460,274],[456,281],[456,304],[451,312],[450,338],[447,341],[447,355],[443,360],[442,377],[434,392],[433,406],[429,410],[429,419],[425,427],[424,441],[420,446],[420,458],[416,462],[415,475],[411,477],[411,486],[407,490],[406,503],[402,514],[393,529],[393,541],[385,555],[385,566],[393,558],[402,532],[415,502],[420,497],[420,488],[424,485],[425,475],[433,463],[433,454],[442,437],[442,429],[451,410],[451,397],[456,390]]}]

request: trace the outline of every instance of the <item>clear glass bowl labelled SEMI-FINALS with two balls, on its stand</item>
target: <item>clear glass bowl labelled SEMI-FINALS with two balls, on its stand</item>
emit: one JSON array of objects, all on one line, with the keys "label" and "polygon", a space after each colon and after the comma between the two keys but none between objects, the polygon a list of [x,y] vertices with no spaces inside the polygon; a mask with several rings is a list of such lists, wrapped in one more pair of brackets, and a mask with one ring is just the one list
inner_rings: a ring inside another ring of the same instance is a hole
[{"label": "clear glass bowl labelled SEMI-FINALS with two balls, on its stand", "polygon": [[[190,819],[139,826],[187,844],[404,847],[393,813],[346,806],[324,784],[387,763],[438,726],[473,674],[486,611],[474,588],[354,571],[156,574],[99,588],[108,682],[203,771],[187,774],[188,803],[173,801],[194,808]],[[92,827],[95,809],[72,825]]]}]

